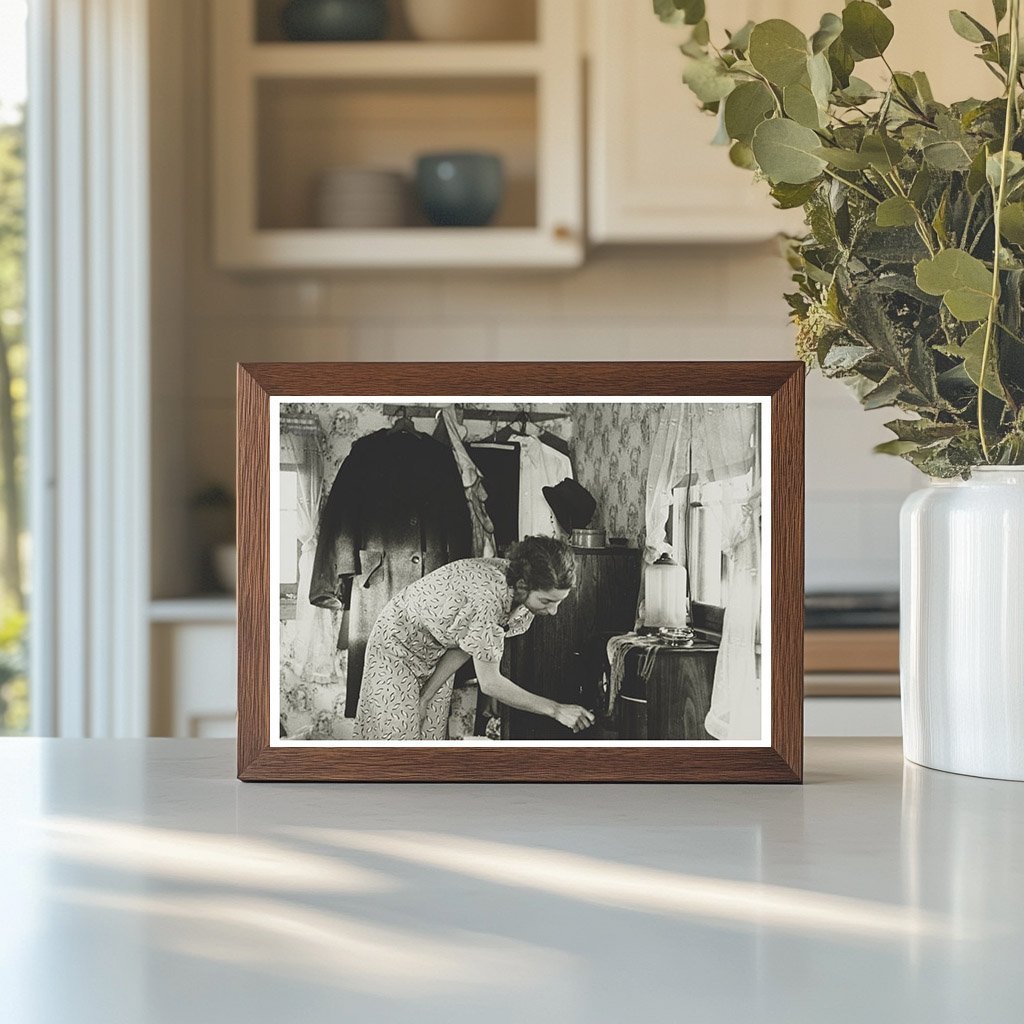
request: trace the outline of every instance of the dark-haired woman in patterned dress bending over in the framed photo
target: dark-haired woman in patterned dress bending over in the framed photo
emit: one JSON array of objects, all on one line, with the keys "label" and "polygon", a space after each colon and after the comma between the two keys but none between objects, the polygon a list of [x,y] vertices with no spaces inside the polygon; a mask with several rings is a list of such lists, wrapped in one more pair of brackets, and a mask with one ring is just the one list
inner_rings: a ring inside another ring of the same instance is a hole
[{"label": "dark-haired woman in patterned dress bending over in the framed photo", "polygon": [[445,739],[456,671],[469,658],[480,691],[579,732],[594,716],[501,674],[506,637],[554,615],[575,584],[572,549],[527,537],[506,558],[463,558],[395,595],[367,644],[354,739]]}]

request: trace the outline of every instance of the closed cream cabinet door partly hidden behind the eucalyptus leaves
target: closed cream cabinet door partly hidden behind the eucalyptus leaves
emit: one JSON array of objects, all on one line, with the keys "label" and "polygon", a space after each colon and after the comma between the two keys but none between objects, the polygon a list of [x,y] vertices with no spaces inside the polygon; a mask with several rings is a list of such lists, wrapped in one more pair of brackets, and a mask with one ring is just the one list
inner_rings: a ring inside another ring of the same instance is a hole
[{"label": "closed cream cabinet door partly hidden behind the eucalyptus leaves", "polygon": [[[678,45],[689,29],[663,25],[648,2],[587,0],[589,233],[601,243],[710,243],[799,232],[799,210],[776,210],[764,182],[711,145],[715,120],[681,82]],[[709,0],[713,39],[746,20],[782,17],[807,34],[842,4],[823,0]],[[988,0],[958,7],[992,20]],[[886,10],[896,29],[887,56],[895,68],[929,73],[937,98],[996,94],[997,83],[949,26],[945,7],[901,0]],[[857,74],[880,84],[881,61]]]}]

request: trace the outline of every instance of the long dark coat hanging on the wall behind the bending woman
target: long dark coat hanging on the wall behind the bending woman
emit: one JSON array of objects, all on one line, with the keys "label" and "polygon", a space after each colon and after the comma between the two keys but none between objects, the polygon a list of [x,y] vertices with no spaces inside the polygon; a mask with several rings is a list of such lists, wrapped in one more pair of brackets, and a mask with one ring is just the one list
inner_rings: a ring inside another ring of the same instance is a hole
[{"label": "long dark coat hanging on the wall behind the bending woman", "polygon": [[358,438],[321,515],[311,604],[346,608],[345,714],[355,715],[367,639],[384,605],[415,580],[473,553],[452,450],[426,434],[378,430]]}]

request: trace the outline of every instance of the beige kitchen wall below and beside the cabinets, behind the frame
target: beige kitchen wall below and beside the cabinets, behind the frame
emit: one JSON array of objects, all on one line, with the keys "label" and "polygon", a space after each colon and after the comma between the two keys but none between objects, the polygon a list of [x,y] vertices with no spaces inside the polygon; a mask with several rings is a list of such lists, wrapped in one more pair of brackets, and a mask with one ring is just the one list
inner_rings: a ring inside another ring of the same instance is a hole
[{"label": "beige kitchen wall below and beside the cabinets, behind the frame", "polygon": [[[180,394],[158,393],[180,410],[189,487],[232,478],[237,360],[793,357],[787,268],[771,245],[604,251],[572,272],[216,271],[205,6],[181,4],[182,120],[155,125],[183,139],[187,369]],[[174,175],[165,168],[162,179]],[[918,476],[871,454],[886,419],[864,414],[841,385],[808,380],[809,588],[896,586],[896,514]]]}]

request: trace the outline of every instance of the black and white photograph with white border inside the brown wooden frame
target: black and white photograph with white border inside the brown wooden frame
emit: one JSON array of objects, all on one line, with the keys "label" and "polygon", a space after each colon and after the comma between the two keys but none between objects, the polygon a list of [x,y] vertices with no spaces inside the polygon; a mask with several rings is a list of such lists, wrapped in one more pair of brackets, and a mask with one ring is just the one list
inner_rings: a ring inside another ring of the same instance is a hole
[{"label": "black and white photograph with white border inside the brown wooden frame", "polygon": [[271,745],[766,745],[768,415],[272,398]]}]

